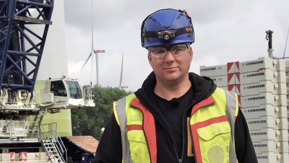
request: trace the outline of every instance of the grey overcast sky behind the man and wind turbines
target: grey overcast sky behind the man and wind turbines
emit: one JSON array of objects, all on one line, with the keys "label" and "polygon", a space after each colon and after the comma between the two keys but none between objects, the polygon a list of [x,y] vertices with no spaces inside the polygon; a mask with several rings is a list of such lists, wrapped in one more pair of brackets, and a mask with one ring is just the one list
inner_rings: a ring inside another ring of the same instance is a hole
[{"label": "grey overcast sky behind the man and wind turbines", "polygon": [[[124,54],[122,86],[136,91],[152,71],[147,50],[140,45],[141,23],[149,14],[165,8],[185,9],[192,17],[192,72],[199,74],[202,65],[268,57],[268,30],[274,31],[273,56],[283,57],[289,29],[288,0],[64,0],[68,76],[78,78],[82,85],[91,81],[96,85],[95,56],[93,63],[90,59],[81,70],[92,50],[93,23],[94,49],[105,50],[98,54],[99,84],[119,87]],[[289,57],[288,46],[285,57]]]}]

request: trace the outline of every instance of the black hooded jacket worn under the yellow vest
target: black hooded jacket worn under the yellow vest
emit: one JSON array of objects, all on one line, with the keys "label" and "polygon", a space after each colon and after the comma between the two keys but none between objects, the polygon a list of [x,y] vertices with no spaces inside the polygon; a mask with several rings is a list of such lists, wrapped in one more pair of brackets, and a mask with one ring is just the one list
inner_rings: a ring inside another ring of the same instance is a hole
[{"label": "black hooded jacket worn under the yellow vest", "polygon": [[[158,106],[159,103],[156,100],[160,100],[158,99],[160,97],[156,97],[153,91],[156,85],[156,77],[153,72],[143,82],[142,87],[135,92],[137,98],[154,115],[157,132],[157,161],[159,163],[179,162],[180,159],[183,163],[195,162],[194,157],[187,156],[186,117],[189,116],[190,109],[195,103],[209,97],[215,91],[216,85],[210,78],[201,77],[195,73],[189,73],[189,79],[192,83],[192,87],[188,91],[190,100],[187,100],[188,97],[180,98],[181,101],[188,101],[188,104],[185,105],[189,106],[181,115],[183,120],[179,119],[179,124],[183,127],[177,128],[178,123],[167,121],[178,120],[178,116],[173,112],[164,114]],[[161,101],[162,104],[168,102],[170,101]],[[183,138],[180,137],[180,133],[183,134]],[[257,162],[247,123],[241,110],[235,123],[235,146],[239,163]],[[94,162],[122,162],[121,131],[114,115],[110,117],[102,134]]]}]

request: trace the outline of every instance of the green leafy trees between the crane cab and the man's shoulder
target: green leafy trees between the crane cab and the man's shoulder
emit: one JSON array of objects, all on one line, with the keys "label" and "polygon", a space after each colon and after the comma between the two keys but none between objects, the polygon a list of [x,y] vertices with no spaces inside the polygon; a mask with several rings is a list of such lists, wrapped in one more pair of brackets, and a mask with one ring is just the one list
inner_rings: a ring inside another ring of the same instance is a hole
[{"label": "green leafy trees between the crane cab and the man's shoulder", "polygon": [[94,86],[95,107],[86,107],[71,110],[71,123],[73,135],[92,135],[100,140],[102,128],[106,126],[112,115],[112,102],[125,97],[132,92],[119,88]]}]

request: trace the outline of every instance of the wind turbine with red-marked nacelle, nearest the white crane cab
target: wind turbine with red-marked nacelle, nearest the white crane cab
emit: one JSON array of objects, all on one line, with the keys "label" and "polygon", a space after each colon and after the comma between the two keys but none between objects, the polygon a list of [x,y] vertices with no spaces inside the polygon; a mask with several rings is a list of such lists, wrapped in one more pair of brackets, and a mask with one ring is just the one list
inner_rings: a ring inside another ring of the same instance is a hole
[{"label": "wind turbine with red-marked nacelle, nearest the white crane cab", "polygon": [[[105,52],[105,50],[94,50],[94,47],[93,47],[93,1],[92,1],[92,12],[91,12],[91,30],[92,30],[92,45],[91,45],[91,53],[88,57],[88,59],[85,61],[84,65],[82,66],[82,68],[85,66],[85,64],[89,61],[90,58],[92,58],[92,64],[91,64],[91,81],[92,81],[92,67],[93,67],[93,53],[96,54],[96,57],[95,57],[95,60],[96,60],[96,84],[98,85],[99,84],[99,68],[98,68],[98,53],[100,52]],[[81,68],[81,70],[82,70]],[[92,83],[92,82],[91,82]]]}]

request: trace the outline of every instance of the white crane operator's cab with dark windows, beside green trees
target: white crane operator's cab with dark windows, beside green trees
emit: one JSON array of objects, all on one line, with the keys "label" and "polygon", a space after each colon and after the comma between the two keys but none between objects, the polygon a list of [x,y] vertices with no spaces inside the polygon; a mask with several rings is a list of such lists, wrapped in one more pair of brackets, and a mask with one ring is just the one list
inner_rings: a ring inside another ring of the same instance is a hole
[{"label": "white crane operator's cab with dark windows, beside green trees", "polygon": [[[47,108],[77,108],[95,106],[92,99],[91,87],[84,94],[77,79],[58,78],[48,79],[45,89],[40,91],[41,106]],[[88,98],[88,99],[85,99]]]}]

